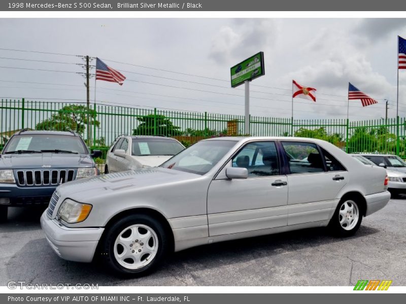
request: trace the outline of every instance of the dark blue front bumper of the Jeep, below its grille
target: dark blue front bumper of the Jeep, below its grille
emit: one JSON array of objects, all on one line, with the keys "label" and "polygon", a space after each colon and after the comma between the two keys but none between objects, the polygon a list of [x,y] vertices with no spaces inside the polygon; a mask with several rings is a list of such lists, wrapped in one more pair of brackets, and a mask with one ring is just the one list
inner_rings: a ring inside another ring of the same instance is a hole
[{"label": "dark blue front bumper of the Jeep, below its grille", "polygon": [[16,184],[0,183],[0,204],[7,206],[25,206],[48,204],[56,186],[19,187]]}]

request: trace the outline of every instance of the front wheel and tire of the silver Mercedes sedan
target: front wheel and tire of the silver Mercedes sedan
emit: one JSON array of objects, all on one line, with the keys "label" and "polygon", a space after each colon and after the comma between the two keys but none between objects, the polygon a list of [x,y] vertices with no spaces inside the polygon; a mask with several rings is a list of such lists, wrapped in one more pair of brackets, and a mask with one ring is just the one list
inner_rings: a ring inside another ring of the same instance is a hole
[{"label": "front wheel and tire of the silver Mercedes sedan", "polygon": [[143,276],[157,267],[168,248],[168,238],[158,220],[133,214],[109,228],[101,243],[101,257],[115,273]]}]

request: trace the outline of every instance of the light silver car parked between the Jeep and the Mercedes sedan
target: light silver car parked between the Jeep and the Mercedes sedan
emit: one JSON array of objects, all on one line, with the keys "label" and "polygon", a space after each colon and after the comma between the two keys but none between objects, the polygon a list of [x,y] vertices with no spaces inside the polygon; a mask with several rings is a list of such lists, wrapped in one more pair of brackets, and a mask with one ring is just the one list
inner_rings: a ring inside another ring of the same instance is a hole
[{"label": "light silver car parked between the Jeep and the Mercedes sedan", "polygon": [[185,147],[163,136],[119,136],[108,150],[105,173],[156,167]]}]

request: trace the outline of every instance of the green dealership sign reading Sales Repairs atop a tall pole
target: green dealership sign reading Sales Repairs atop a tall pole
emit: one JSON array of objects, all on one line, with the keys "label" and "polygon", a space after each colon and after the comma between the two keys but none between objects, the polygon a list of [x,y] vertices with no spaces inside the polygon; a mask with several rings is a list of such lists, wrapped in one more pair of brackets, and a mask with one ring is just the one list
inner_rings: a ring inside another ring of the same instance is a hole
[{"label": "green dealership sign reading Sales Repairs atop a tall pole", "polygon": [[259,52],[243,62],[234,65],[231,67],[230,72],[232,88],[264,75],[263,52]]}]

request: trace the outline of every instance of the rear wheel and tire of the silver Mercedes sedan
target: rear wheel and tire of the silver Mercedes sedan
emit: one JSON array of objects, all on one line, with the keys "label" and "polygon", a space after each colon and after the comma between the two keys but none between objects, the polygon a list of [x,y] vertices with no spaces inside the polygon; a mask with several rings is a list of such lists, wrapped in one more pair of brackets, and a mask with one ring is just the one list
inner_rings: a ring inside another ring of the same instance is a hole
[{"label": "rear wheel and tire of the silver Mercedes sedan", "polygon": [[330,220],[331,232],[339,237],[353,236],[362,221],[360,204],[351,198],[341,200]]}]

